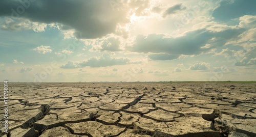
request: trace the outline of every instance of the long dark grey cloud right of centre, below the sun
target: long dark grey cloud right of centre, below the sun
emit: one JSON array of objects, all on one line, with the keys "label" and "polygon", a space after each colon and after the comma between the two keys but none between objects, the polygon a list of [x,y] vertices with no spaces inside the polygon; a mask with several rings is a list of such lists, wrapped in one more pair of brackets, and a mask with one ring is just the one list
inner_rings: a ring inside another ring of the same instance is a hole
[{"label": "long dark grey cloud right of centre, below the sun", "polygon": [[217,46],[223,46],[229,40],[236,39],[244,29],[227,29],[220,32],[206,29],[191,31],[181,37],[166,37],[163,34],[138,35],[127,50],[135,52],[167,53],[172,55],[199,54]]}]

